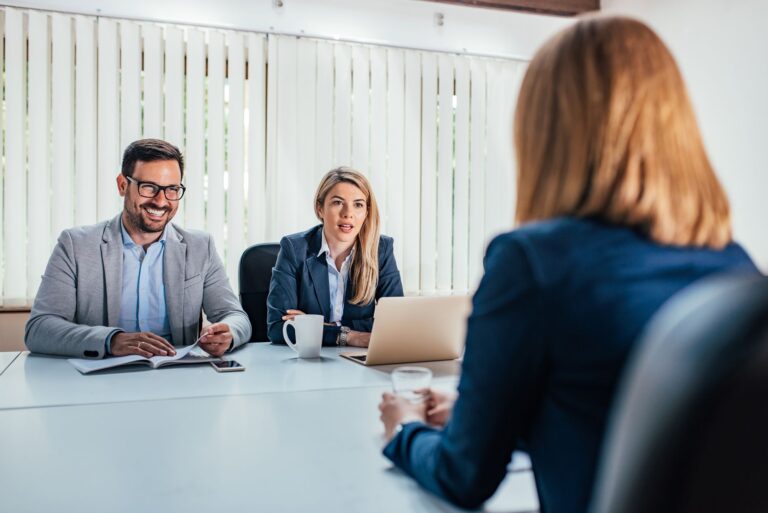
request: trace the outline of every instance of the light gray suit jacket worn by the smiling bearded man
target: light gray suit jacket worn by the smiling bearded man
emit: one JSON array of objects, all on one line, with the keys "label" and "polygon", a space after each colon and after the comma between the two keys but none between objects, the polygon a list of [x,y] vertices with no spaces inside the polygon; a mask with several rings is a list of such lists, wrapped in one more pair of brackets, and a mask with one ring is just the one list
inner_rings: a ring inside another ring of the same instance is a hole
[{"label": "light gray suit jacket worn by the smiling bearded man", "polygon": [[[102,358],[106,338],[120,315],[122,275],[119,215],[64,230],[27,321],[24,342],[29,350]],[[248,341],[251,324],[229,286],[209,234],[168,226],[163,281],[174,345],[197,339],[201,310],[211,322],[229,325],[233,348]]]}]

